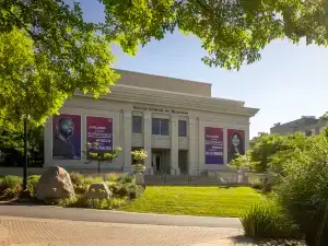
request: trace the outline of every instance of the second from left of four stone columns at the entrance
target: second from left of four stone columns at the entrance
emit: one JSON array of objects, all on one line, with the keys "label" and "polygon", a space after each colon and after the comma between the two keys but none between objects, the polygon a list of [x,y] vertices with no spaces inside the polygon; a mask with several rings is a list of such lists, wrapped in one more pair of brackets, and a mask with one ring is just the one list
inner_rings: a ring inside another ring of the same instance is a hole
[{"label": "second from left of four stone columns at the entrance", "polygon": [[152,167],[152,114],[143,113],[143,150],[147,151],[148,157],[144,160],[145,174],[153,175]]}]

